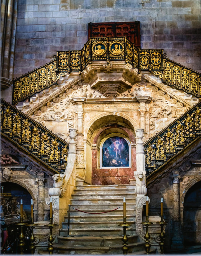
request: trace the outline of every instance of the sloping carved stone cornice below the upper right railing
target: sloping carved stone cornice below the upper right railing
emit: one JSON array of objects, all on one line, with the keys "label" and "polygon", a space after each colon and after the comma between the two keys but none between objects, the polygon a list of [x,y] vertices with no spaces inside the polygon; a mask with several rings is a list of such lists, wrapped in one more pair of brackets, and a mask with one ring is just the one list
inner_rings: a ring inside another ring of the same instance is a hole
[{"label": "sloping carved stone cornice below the upper right railing", "polygon": [[142,75],[142,78],[144,78],[146,81],[150,82],[152,85],[155,85],[158,89],[164,91],[165,93],[167,93],[170,97],[174,98],[175,100],[177,100],[178,102],[181,102],[184,106],[191,108],[193,107],[193,104],[189,103],[188,101],[184,100],[182,97],[180,97],[179,95],[177,95],[176,93],[172,92],[171,90],[168,90],[168,88],[161,84],[158,83],[156,80],[154,80],[153,78],[151,78],[149,75],[144,74]]}]

